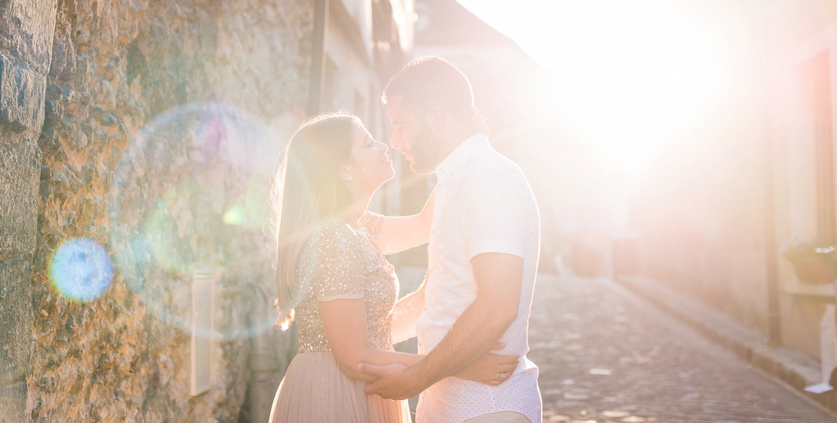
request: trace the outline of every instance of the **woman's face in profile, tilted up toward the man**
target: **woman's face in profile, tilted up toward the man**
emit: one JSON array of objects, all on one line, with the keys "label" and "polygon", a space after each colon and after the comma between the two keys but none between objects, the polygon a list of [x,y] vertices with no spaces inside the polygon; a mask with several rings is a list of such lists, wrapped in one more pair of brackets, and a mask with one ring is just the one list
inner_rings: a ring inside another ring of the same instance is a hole
[{"label": "woman's face in profile, tilted up toward the man", "polygon": [[393,161],[387,155],[389,148],[381,141],[372,138],[369,131],[356,122],[352,129],[352,155],[346,165],[346,171],[353,181],[372,191],[395,175]]}]

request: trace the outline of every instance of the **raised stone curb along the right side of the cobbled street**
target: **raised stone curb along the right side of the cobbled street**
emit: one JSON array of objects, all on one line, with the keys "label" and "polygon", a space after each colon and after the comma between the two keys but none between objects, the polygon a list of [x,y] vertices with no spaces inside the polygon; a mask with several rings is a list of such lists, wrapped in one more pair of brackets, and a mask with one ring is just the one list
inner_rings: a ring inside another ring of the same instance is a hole
[{"label": "raised stone curb along the right side of the cobbled street", "polygon": [[689,324],[707,339],[721,344],[768,375],[783,381],[799,395],[837,413],[837,393],[834,390],[823,394],[805,391],[806,386],[819,383],[817,360],[793,349],[770,347],[764,335],[653,278],[632,275],[615,279],[625,288]]}]

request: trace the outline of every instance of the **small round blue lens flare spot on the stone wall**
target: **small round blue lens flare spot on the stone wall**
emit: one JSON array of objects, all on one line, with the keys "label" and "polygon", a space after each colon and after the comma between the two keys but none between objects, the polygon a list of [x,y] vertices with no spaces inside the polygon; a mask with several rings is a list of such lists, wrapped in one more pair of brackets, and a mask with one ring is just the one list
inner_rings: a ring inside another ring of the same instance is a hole
[{"label": "small round blue lens flare spot on the stone wall", "polygon": [[113,263],[104,247],[89,238],[63,242],[49,260],[49,279],[65,298],[87,302],[110,287]]}]

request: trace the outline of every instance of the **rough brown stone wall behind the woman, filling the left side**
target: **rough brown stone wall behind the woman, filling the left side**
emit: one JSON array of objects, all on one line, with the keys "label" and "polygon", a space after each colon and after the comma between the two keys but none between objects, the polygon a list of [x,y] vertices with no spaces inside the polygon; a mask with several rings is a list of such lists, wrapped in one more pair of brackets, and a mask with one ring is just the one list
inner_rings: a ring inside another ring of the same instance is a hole
[{"label": "rough brown stone wall behind the woman, filling the left side", "polygon": [[[312,11],[0,3],[0,420],[239,420],[251,335],[270,328],[249,313],[272,293],[264,200],[304,113]],[[192,324],[194,274],[216,281],[211,328]],[[198,395],[194,331],[213,357]]]}]

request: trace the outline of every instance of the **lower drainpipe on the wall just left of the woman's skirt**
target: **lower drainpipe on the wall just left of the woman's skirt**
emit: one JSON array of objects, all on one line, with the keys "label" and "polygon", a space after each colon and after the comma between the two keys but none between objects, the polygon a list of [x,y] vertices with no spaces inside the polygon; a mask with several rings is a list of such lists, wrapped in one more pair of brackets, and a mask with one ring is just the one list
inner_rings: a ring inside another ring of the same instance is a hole
[{"label": "lower drainpipe on the wall just left of the woman's skirt", "polygon": [[244,286],[244,296],[249,301],[250,312],[247,314],[247,327],[254,330],[249,338],[249,370],[247,384],[249,420],[263,422],[270,419],[270,408],[280,379],[280,360],[271,348],[270,330],[262,330],[270,319],[270,300],[256,283]]}]

